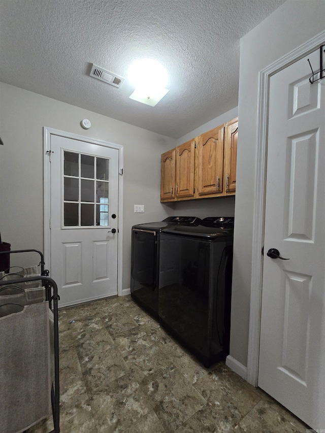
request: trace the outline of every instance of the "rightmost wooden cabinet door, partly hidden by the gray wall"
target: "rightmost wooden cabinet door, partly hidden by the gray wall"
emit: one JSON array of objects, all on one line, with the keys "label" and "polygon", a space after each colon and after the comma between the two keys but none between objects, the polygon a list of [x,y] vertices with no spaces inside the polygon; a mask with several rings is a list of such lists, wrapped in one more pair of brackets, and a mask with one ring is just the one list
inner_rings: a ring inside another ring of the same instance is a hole
[{"label": "rightmost wooden cabinet door, partly hidden by the gray wall", "polygon": [[238,117],[225,125],[224,190],[226,195],[236,191]]}]

